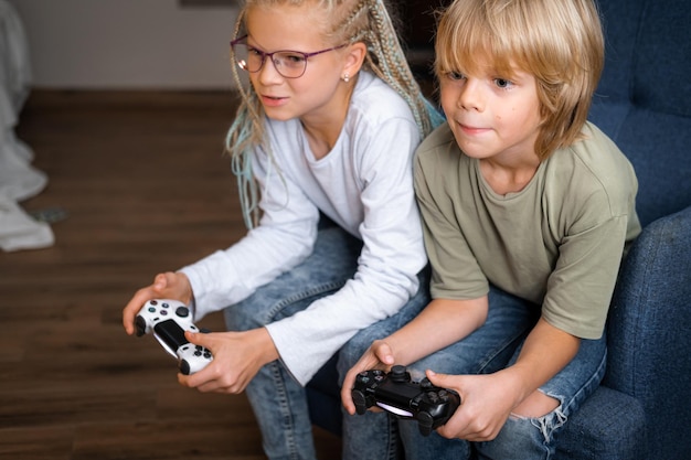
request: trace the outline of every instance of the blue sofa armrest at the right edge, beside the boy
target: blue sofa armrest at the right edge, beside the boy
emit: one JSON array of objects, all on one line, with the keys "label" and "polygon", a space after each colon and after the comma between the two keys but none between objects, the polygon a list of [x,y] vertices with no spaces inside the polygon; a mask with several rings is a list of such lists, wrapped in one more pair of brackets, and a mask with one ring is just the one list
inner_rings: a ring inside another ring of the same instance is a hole
[{"label": "blue sofa armrest at the right edge, beside the boy", "polygon": [[691,400],[691,206],[647,225],[623,264],[608,321],[604,385],[646,413],[650,458],[687,459]]}]

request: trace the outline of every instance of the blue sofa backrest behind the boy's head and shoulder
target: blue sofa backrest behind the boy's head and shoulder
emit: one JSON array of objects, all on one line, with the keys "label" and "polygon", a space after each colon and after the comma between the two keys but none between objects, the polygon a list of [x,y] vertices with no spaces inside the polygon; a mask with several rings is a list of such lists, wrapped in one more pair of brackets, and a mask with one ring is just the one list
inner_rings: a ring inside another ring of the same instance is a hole
[{"label": "blue sofa backrest behind the boy's head and shoulder", "polygon": [[606,62],[589,118],[634,164],[647,225],[691,205],[691,9],[681,0],[599,8]]}]

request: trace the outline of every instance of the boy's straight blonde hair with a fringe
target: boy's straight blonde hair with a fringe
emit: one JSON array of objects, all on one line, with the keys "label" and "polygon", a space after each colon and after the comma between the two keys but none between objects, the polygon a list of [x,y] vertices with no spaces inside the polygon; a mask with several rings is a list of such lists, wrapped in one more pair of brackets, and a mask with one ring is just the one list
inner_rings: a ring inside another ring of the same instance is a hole
[{"label": "boy's straight blonde hair with a fringe", "polygon": [[456,0],[436,36],[438,76],[476,72],[489,58],[495,72],[535,77],[542,126],[541,160],[580,138],[604,65],[604,38],[592,0]]}]

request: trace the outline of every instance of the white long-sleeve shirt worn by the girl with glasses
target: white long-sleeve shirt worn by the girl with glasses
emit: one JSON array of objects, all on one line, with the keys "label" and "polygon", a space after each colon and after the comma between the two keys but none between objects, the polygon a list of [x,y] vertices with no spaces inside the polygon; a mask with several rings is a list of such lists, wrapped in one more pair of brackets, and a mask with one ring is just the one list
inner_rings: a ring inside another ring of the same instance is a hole
[{"label": "white long-sleeve shirt worn by the girl with glasses", "polygon": [[275,161],[257,151],[259,226],[225,250],[184,267],[195,319],[238,302],[311,252],[319,211],[362,239],[358,270],[332,296],[267,325],[286,367],[305,385],[359,330],[396,313],[425,266],[412,159],[421,141],[405,101],[361,72],[333,149],[316,160],[297,119],[266,120]]}]

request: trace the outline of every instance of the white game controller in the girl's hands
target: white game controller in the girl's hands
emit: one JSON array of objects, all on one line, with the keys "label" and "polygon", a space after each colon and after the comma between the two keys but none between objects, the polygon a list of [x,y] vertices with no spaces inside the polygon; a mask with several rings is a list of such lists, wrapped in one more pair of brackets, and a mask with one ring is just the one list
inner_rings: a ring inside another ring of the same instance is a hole
[{"label": "white game controller in the girl's hands", "polygon": [[192,322],[190,309],[178,300],[149,300],[139,310],[135,325],[137,336],[153,333],[163,349],[178,360],[180,373],[184,375],[203,370],[213,360],[209,350],[184,338],[185,331],[201,331]]}]

